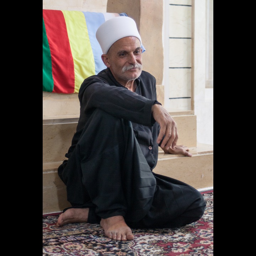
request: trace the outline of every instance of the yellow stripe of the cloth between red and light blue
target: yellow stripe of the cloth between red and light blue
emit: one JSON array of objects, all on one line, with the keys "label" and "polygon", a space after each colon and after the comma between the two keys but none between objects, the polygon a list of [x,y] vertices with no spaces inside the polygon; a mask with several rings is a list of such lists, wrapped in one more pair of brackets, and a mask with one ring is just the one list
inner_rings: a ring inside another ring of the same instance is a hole
[{"label": "yellow stripe of the cloth between red and light blue", "polygon": [[95,75],[94,55],[84,14],[81,11],[62,12],[66,21],[70,48],[74,60],[74,92],[78,92],[84,79]]}]

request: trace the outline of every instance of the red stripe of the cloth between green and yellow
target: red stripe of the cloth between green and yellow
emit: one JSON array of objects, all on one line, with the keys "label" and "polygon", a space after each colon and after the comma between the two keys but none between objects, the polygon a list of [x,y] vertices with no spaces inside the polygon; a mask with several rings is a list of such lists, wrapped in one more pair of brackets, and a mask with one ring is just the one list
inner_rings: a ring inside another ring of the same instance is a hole
[{"label": "red stripe of the cloth between green and yellow", "polygon": [[43,10],[43,18],[52,58],[52,92],[74,93],[74,62],[63,12]]}]

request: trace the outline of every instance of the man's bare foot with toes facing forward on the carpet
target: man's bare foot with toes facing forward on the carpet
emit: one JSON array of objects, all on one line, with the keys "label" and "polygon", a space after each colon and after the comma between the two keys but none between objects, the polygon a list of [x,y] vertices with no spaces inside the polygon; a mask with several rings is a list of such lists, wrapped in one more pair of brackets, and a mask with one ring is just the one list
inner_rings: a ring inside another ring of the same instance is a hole
[{"label": "man's bare foot with toes facing forward on the carpet", "polygon": [[132,230],[127,226],[123,216],[113,216],[107,219],[101,219],[100,222],[105,235],[114,240],[133,240]]}]

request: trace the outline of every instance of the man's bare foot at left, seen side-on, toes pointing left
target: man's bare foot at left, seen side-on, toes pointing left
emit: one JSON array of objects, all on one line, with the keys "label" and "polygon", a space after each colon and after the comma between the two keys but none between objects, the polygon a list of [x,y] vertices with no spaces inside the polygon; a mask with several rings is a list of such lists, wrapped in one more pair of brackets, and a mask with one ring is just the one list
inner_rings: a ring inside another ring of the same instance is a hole
[{"label": "man's bare foot at left, seen side-on, toes pointing left", "polygon": [[70,208],[60,214],[57,226],[63,226],[68,223],[87,222],[89,208]]}]

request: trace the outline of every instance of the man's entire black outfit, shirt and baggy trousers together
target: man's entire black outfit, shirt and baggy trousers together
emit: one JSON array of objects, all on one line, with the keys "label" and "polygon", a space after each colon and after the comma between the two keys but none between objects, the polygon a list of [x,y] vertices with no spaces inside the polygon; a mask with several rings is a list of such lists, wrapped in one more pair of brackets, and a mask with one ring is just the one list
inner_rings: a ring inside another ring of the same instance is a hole
[{"label": "man's entire black outfit, shirt and baggy trousers together", "polygon": [[201,218],[205,202],[191,186],[152,171],[160,128],[151,114],[160,104],[156,80],[142,71],[135,82],[134,93],[107,68],[82,83],[78,126],[58,169],[68,201],[89,207],[90,223],[116,215],[142,228],[191,223]]}]

